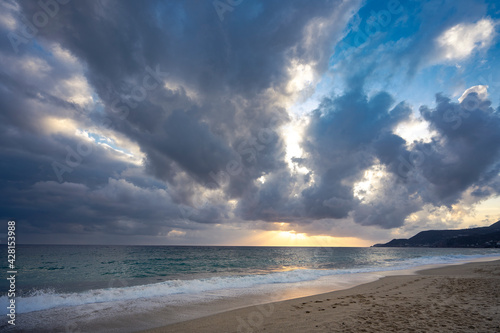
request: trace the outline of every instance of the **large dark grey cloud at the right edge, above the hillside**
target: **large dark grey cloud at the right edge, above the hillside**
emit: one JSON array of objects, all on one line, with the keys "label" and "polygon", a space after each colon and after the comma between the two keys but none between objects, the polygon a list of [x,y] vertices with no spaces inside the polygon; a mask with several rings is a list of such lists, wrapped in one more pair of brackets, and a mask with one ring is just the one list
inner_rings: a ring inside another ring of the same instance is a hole
[{"label": "large dark grey cloud at the right edge, above the hillside", "polygon": [[407,149],[391,135],[383,144],[386,151],[378,157],[391,174],[375,200],[357,207],[355,221],[392,228],[426,204],[451,207],[469,190],[477,199],[498,195],[498,112],[476,93],[461,103],[438,94],[436,104],[434,109],[420,109],[437,132],[430,142],[416,141]]}]

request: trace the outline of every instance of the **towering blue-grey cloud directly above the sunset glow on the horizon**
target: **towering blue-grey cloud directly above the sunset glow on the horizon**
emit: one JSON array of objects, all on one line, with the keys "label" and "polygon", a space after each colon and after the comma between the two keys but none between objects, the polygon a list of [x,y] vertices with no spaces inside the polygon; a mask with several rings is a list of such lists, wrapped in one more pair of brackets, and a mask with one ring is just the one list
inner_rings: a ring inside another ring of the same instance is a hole
[{"label": "towering blue-grey cloud directly above the sunset glow on the horizon", "polygon": [[[305,157],[294,159],[311,171],[314,180],[310,175],[300,177],[283,169],[240,201],[239,212],[245,219],[309,223],[316,219],[346,218],[355,211],[355,219],[362,224],[401,225],[404,213],[395,218],[386,216],[386,220],[367,221],[364,211],[371,216],[374,210],[362,205],[353,195],[353,187],[367,168],[379,160],[389,164],[404,151],[405,141],[392,131],[410,113],[404,103],[394,106],[393,98],[385,92],[368,98],[359,83],[342,96],[325,99],[311,115],[304,133]],[[294,187],[301,183],[300,178],[302,182],[305,180],[303,189],[290,196],[297,192]],[[393,207],[388,206],[380,213],[390,209]]]}]

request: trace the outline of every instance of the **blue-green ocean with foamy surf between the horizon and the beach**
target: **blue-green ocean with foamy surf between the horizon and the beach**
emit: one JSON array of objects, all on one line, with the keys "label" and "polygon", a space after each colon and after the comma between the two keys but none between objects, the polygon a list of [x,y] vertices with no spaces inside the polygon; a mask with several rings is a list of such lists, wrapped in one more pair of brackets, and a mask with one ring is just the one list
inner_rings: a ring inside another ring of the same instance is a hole
[{"label": "blue-green ocean with foamy surf between the horizon and the beach", "polygon": [[[381,272],[499,255],[500,249],[21,245],[16,309],[27,318],[89,305],[140,313],[243,296],[275,301],[376,280]],[[2,269],[8,271],[6,262]]]}]

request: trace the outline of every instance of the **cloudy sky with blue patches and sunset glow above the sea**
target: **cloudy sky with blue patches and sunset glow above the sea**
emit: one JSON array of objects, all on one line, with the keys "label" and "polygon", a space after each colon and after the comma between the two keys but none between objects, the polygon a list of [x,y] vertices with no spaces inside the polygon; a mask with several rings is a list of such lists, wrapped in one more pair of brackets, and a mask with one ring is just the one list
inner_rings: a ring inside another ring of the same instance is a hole
[{"label": "cloudy sky with blue patches and sunset glow above the sea", "polygon": [[492,224],[499,32],[496,1],[2,1],[0,219],[134,245]]}]

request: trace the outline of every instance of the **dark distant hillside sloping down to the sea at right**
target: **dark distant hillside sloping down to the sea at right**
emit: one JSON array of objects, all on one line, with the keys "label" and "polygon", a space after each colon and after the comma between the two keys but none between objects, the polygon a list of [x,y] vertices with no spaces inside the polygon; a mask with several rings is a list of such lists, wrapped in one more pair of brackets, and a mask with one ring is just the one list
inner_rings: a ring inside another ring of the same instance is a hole
[{"label": "dark distant hillside sloping down to the sea at right", "polygon": [[489,227],[422,231],[409,239],[393,239],[374,247],[500,247],[500,221]]}]

